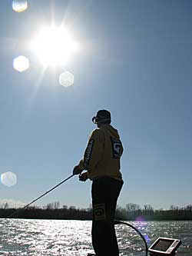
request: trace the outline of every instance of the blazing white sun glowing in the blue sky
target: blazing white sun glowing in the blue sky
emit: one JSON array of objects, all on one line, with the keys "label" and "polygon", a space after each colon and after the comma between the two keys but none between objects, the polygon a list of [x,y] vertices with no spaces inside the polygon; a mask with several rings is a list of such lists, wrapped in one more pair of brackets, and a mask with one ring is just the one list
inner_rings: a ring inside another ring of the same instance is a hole
[{"label": "blazing white sun glowing in the blue sky", "polygon": [[78,44],[72,35],[60,27],[43,27],[30,44],[45,66],[65,65],[78,50]]}]

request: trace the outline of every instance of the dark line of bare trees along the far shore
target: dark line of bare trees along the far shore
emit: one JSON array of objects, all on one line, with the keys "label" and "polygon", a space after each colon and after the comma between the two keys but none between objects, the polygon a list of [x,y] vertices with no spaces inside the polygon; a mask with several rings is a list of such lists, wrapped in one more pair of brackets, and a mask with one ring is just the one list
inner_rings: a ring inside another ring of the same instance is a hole
[{"label": "dark line of bare trees along the far shore", "polygon": [[[91,220],[92,208],[76,208],[75,206],[62,205],[58,201],[49,203],[46,206],[32,206],[26,209],[10,208],[8,203],[0,205],[0,218],[38,218],[38,219],[63,219],[63,220]],[[115,218],[122,221],[180,221],[192,220],[192,204],[185,207],[170,206],[169,210],[155,210],[151,204],[127,203],[122,208],[117,206]]]}]

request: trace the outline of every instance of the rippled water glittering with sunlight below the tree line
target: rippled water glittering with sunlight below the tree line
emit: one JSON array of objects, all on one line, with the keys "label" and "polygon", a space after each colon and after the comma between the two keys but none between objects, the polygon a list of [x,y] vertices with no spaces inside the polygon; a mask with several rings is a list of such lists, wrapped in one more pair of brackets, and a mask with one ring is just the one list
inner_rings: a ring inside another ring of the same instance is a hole
[{"label": "rippled water glittering with sunlight below the tree line", "polygon": [[[192,255],[192,221],[131,221],[150,245],[157,237],[179,238],[177,254]],[[131,228],[117,225],[121,256],[144,255],[144,241]],[[91,221],[0,219],[0,255],[85,256],[93,253]]]}]

